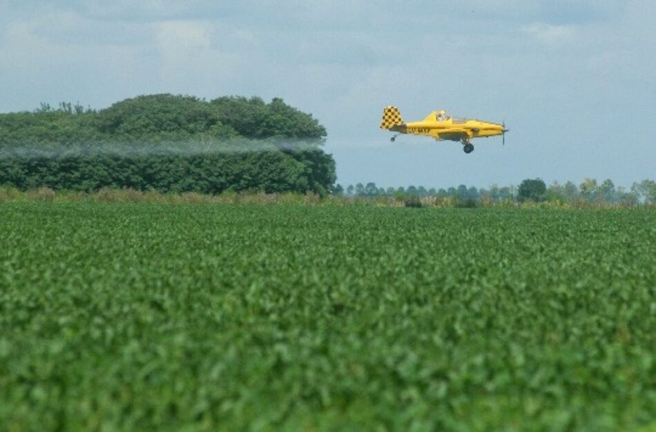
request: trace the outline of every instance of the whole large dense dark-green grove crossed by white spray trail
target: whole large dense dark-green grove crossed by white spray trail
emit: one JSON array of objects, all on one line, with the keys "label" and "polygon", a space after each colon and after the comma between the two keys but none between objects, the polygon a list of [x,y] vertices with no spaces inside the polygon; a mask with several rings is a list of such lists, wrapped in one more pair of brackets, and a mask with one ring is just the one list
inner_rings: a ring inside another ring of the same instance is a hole
[{"label": "whole large dense dark-green grove crossed by white spray trail", "polygon": [[0,184],[218,194],[334,186],[326,130],[273,99],[147,95],[92,110],[42,104],[0,114]]}]

